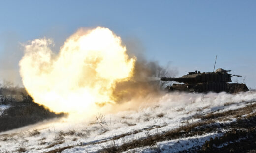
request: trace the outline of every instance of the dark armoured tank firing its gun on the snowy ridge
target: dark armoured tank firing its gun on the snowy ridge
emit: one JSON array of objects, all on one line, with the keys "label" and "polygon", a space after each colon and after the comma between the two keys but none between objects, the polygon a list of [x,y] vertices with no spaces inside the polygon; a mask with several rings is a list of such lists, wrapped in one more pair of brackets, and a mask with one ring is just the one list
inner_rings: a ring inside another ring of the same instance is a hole
[{"label": "dark armoured tank firing its gun on the snowy ridge", "polygon": [[182,84],[173,84],[167,86],[167,91],[188,91],[188,92],[222,92],[237,93],[248,91],[248,88],[243,83],[228,83],[232,82],[231,77],[242,77],[240,75],[229,74],[231,70],[217,69],[215,72],[195,71],[182,77],[162,77],[162,81],[176,81]]}]

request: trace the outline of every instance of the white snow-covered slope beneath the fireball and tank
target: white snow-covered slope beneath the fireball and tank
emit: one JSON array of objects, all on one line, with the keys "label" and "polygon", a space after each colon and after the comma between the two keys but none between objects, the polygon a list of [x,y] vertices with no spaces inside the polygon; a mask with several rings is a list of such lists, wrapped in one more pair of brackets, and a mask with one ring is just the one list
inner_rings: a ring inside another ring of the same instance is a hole
[{"label": "white snow-covered slope beneath the fireball and tank", "polygon": [[[256,103],[256,92],[236,95],[222,93],[193,94],[165,93],[147,97],[141,102],[126,105],[115,113],[95,113],[94,118],[44,121],[35,125],[0,133],[0,151],[16,152],[24,148],[26,153],[44,153],[64,148],[62,153],[96,153],[113,143],[146,138],[149,134],[161,134],[183,125],[198,122],[193,116],[210,112],[224,112]],[[230,121],[224,121],[230,122]],[[221,136],[211,132],[204,135],[157,142],[154,146],[129,149],[129,153],[151,153],[158,149],[163,153],[175,153],[202,145],[206,140]],[[69,146],[69,147],[68,147]]]}]

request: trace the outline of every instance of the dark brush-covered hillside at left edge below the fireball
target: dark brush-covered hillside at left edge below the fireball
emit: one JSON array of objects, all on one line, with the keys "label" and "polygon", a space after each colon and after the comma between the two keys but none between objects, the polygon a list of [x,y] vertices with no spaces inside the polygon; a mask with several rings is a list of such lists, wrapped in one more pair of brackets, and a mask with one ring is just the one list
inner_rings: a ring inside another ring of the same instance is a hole
[{"label": "dark brush-covered hillside at left edge below the fireball", "polygon": [[34,124],[45,119],[63,117],[35,103],[24,88],[0,87],[0,105],[9,105],[0,115],[0,132]]}]

